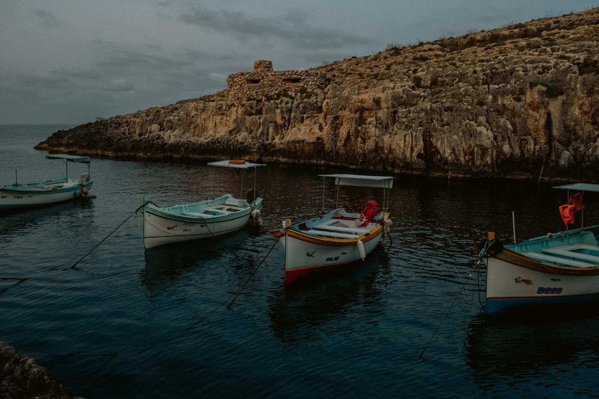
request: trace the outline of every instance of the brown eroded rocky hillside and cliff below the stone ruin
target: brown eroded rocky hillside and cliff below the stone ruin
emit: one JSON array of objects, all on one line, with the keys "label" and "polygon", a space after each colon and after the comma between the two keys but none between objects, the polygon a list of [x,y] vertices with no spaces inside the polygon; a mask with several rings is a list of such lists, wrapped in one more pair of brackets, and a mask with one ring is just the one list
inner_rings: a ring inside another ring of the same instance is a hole
[{"label": "brown eroded rocky hillside and cliff below the stone ruin", "polygon": [[[226,90],[58,131],[36,148],[431,176],[598,180],[599,8],[314,68],[325,89]],[[291,97],[291,98],[290,98]]]}]

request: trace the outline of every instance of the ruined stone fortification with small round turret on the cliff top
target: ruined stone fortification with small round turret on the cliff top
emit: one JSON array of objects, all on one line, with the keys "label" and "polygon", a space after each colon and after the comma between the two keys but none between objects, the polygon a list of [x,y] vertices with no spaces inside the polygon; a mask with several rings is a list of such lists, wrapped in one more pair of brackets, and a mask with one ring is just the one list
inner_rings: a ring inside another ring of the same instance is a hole
[{"label": "ruined stone fortification with small round turret on the cliff top", "polygon": [[311,92],[326,87],[326,75],[320,71],[274,71],[273,62],[254,62],[252,72],[238,72],[226,79],[227,97],[234,101],[276,97],[277,93],[296,96],[300,90]]}]

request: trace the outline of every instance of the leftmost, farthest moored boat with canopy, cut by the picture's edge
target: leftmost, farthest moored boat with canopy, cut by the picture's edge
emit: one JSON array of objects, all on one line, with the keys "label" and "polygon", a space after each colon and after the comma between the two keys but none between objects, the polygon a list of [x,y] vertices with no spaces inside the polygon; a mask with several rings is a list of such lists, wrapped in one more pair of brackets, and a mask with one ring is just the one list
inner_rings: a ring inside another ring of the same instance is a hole
[{"label": "leftmost, farthest moored boat with canopy, cut by the picture's edge", "polygon": [[[62,179],[38,183],[14,183],[0,186],[0,210],[38,207],[56,202],[73,200],[87,194],[93,182],[89,177],[88,156],[48,155],[47,159],[62,159],[66,165],[66,175]],[[87,173],[78,180],[68,178],[68,163],[87,164]]]}]

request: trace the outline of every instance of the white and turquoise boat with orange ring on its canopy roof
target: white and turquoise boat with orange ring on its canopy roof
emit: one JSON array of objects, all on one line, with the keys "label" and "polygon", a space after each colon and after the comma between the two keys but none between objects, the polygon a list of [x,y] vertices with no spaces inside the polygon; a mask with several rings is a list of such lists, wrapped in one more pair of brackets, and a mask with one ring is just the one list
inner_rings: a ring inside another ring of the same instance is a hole
[{"label": "white and turquoise boat with orange ring on its canopy roof", "polygon": [[[253,169],[255,172],[256,168],[265,166],[239,160],[210,162],[208,165],[240,170],[241,193],[244,171]],[[259,220],[261,208],[262,198],[256,195],[255,174],[254,188],[247,192],[246,198],[225,194],[213,200],[164,208],[148,203],[144,205],[144,246],[149,249],[228,234],[244,228],[250,220]]]}]

